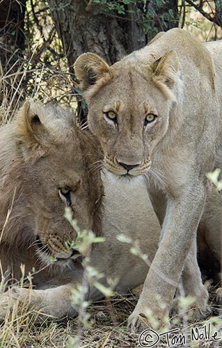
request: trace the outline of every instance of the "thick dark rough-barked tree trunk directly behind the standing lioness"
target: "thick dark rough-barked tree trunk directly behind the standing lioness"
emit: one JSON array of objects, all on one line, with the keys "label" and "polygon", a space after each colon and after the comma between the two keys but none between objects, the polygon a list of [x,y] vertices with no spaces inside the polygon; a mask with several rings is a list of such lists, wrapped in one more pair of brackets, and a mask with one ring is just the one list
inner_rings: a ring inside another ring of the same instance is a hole
[{"label": "thick dark rough-barked tree trunk directly behind the standing lioness", "polygon": [[[161,19],[166,19],[164,15],[168,14],[168,6],[173,6],[173,15],[178,16],[176,0],[166,0],[161,8],[156,8],[156,1],[153,0],[147,1],[146,6],[145,1],[132,1],[129,5],[122,5],[124,15],[118,14],[118,11],[105,10],[104,5],[93,3],[92,0],[88,0],[88,4],[83,0],[48,0],[48,3],[71,73],[73,63],[80,54],[93,52],[99,54],[108,64],[113,64],[143,47],[158,31],[178,24],[178,21],[173,20],[166,21],[166,25],[160,24]],[[160,15],[157,10],[161,12]],[[143,28],[146,11],[150,13],[153,25],[157,27],[149,36],[145,35]],[[86,113],[87,110],[84,110],[80,102],[81,123],[86,120]]]}]

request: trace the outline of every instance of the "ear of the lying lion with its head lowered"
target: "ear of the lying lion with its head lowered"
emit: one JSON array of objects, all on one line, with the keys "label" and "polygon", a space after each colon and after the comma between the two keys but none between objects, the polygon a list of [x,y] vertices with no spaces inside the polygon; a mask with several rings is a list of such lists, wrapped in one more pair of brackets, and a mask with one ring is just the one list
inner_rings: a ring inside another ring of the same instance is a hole
[{"label": "ear of the lying lion with its head lowered", "polygon": [[[31,106],[34,105],[32,108]],[[42,123],[40,115],[36,112],[40,110],[41,104],[24,102],[22,109],[19,110],[17,123],[17,136],[19,146],[24,150],[37,149],[38,152],[45,152],[45,139],[48,132],[45,125]],[[37,110],[36,110],[37,109]],[[42,150],[40,150],[42,149]]]}]

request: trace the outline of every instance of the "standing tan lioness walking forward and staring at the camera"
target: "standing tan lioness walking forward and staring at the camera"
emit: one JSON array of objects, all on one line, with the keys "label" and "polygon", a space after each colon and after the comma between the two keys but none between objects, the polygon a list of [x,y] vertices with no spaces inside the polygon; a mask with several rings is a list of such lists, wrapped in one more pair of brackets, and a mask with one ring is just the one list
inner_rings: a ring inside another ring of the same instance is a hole
[{"label": "standing tan lioness walking forward and staring at the camera", "polygon": [[157,254],[129,317],[133,331],[141,328],[146,309],[164,322],[183,269],[186,292],[198,297],[203,309],[207,306],[196,263],[196,230],[208,192],[205,173],[212,171],[221,140],[222,45],[206,47],[172,29],[111,67],[90,53],[74,64],[104,165],[132,182],[138,175],[148,177],[162,224]]}]

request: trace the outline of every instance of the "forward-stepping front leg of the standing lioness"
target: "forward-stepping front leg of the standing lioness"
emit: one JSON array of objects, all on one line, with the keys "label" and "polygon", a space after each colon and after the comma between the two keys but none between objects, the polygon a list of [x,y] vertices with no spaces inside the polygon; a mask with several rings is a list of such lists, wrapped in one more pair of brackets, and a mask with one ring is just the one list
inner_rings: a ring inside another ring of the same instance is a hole
[{"label": "forward-stepping front leg of the standing lioness", "polygon": [[162,239],[136,308],[129,316],[130,331],[141,329],[141,314],[149,317],[152,313],[159,326],[168,318],[184,262],[196,237],[205,196],[203,184],[190,184],[177,199],[168,198]]}]

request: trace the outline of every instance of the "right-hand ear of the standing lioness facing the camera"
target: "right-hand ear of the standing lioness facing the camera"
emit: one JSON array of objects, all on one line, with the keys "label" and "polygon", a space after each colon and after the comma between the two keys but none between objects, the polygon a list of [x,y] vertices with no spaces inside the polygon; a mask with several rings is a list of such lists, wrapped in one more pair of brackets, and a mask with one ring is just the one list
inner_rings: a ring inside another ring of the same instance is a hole
[{"label": "right-hand ear of the standing lioness facing the camera", "polygon": [[175,51],[170,51],[152,65],[152,81],[162,90],[168,99],[175,100],[171,91],[177,82],[178,56]]}]

